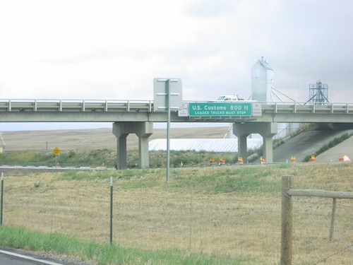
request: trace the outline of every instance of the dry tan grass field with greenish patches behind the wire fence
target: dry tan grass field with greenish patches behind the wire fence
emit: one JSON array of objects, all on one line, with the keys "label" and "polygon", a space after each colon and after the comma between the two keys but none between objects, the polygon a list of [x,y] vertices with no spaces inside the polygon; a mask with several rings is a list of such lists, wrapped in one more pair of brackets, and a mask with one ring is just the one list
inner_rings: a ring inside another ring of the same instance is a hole
[{"label": "dry tan grass field with greenish patches behind the wire fence", "polygon": [[[188,264],[190,255],[208,257],[196,264],[279,264],[282,176],[294,175],[294,188],[353,192],[352,173],[351,163],[174,168],[167,183],[163,169],[7,172],[4,225],[108,244],[112,176],[113,241],[131,259],[101,264]],[[337,202],[328,241],[331,207],[294,200],[294,264],[352,264],[352,200]]]}]

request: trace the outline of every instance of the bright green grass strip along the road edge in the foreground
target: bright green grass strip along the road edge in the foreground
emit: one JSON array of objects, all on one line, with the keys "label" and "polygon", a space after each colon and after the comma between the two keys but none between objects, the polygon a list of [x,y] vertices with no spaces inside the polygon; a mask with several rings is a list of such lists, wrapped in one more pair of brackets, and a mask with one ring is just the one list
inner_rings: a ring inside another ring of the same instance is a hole
[{"label": "bright green grass strip along the road edge in the foreground", "polygon": [[241,257],[216,257],[208,254],[189,254],[177,249],[147,251],[127,249],[119,245],[103,245],[76,240],[57,233],[26,231],[22,228],[0,227],[0,245],[14,249],[36,250],[51,254],[65,254],[81,261],[97,264],[246,264]]}]

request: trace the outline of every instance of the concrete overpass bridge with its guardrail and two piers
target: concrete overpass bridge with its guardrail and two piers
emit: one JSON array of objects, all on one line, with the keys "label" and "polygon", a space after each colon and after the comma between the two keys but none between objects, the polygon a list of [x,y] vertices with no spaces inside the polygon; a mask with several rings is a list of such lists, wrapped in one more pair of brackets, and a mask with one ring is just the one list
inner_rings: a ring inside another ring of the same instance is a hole
[{"label": "concrete overpass bridge with its guardrail and two piers", "polygon": [[[185,109],[172,111],[170,122],[233,123],[239,156],[243,158],[247,157],[247,136],[261,134],[263,154],[269,163],[273,162],[272,138],[277,134],[277,123],[353,124],[353,103],[218,103],[184,101]],[[253,111],[244,115],[243,112],[227,115],[228,112],[222,111],[224,106],[241,107],[241,104],[250,104]],[[188,109],[191,105],[205,111],[191,114]],[[167,111],[154,110],[152,100],[0,100],[0,122],[112,122],[117,139],[117,167],[122,169],[126,167],[128,134],[138,136],[140,167],[149,166],[148,137],[153,132],[153,122],[167,122]]]}]

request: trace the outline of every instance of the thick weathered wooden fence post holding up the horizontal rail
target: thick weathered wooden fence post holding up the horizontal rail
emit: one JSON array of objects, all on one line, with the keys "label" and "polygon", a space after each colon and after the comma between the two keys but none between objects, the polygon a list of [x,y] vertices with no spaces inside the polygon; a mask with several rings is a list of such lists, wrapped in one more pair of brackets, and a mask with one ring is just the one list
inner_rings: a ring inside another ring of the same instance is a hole
[{"label": "thick weathered wooden fence post holding up the horizontal rail", "polygon": [[288,190],[293,188],[293,176],[282,177],[281,265],[292,265],[293,201]]}]

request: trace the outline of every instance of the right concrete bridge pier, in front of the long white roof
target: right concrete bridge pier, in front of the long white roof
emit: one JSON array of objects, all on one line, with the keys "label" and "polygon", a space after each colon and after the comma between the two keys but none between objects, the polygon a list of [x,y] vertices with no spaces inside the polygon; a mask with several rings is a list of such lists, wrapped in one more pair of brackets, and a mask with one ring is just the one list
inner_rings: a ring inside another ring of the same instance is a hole
[{"label": "right concrete bridge pier, in front of the long white roof", "polygon": [[249,134],[263,136],[263,157],[268,163],[273,163],[273,136],[277,134],[276,122],[246,122],[234,123],[233,134],[238,137],[238,155],[247,162],[248,147],[246,138]]}]

